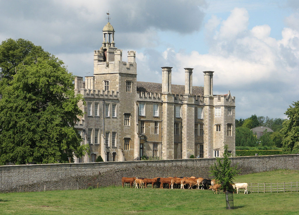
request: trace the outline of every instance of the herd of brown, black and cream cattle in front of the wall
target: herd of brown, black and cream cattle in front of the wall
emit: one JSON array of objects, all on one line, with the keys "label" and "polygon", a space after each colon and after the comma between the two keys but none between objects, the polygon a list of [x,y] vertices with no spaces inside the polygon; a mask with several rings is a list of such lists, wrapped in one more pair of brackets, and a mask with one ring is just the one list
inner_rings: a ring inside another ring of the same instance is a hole
[{"label": "herd of brown, black and cream cattle in front of the wall", "polygon": [[[214,191],[214,194],[217,194],[217,191],[221,189],[221,184],[216,183],[215,179],[204,179],[204,178],[196,178],[194,176],[191,177],[183,177],[183,178],[177,178],[177,177],[168,177],[168,178],[153,178],[153,179],[146,179],[146,178],[127,178],[122,177],[121,184],[124,185],[124,183],[130,184],[131,187],[133,187],[133,184],[135,183],[135,188],[139,188],[139,186],[142,188],[147,188],[148,184],[152,184],[152,188],[164,188],[168,187],[169,189],[173,189],[173,187],[181,188],[181,189],[193,189],[201,187],[201,189],[210,189]],[[231,186],[237,190],[244,189],[244,194],[247,192],[247,183],[236,183],[231,184]],[[220,192],[220,191],[219,191]]]}]

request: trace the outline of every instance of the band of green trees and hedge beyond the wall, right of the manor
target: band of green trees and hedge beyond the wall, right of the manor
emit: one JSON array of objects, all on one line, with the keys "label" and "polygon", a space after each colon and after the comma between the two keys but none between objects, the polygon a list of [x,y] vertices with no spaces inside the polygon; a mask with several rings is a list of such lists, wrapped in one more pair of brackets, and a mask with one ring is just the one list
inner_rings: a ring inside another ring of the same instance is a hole
[{"label": "band of green trees and hedge beyond the wall, right of the manor", "polygon": [[[258,149],[282,148],[283,153],[299,153],[299,101],[284,113],[287,119],[251,115],[247,119],[236,119],[236,148],[255,147]],[[266,126],[273,132],[265,131],[263,136],[257,136],[251,131],[257,126]],[[245,148],[244,148],[245,149]]]}]

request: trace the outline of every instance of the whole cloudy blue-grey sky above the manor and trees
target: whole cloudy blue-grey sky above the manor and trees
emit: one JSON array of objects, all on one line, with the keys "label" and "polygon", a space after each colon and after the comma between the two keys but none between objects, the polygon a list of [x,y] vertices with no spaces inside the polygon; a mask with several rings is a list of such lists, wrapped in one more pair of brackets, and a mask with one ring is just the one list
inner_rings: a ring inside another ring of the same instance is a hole
[{"label": "whole cloudy blue-grey sky above the manor and trees", "polygon": [[89,76],[108,11],[116,47],[136,51],[138,81],[161,83],[171,66],[184,85],[188,67],[203,86],[202,71],[215,71],[214,94],[236,97],[237,119],[286,118],[299,100],[297,0],[0,0],[0,41],[28,39]]}]

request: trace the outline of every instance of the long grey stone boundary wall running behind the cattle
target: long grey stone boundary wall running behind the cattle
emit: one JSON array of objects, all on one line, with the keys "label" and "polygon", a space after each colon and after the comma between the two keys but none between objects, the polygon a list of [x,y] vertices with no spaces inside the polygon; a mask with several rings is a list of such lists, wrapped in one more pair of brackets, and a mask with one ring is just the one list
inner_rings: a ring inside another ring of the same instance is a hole
[{"label": "long grey stone boundary wall running behind the cattle", "polygon": [[[75,190],[120,185],[125,177],[209,177],[215,158],[0,166],[0,192]],[[299,154],[232,157],[241,174],[299,170]]]}]

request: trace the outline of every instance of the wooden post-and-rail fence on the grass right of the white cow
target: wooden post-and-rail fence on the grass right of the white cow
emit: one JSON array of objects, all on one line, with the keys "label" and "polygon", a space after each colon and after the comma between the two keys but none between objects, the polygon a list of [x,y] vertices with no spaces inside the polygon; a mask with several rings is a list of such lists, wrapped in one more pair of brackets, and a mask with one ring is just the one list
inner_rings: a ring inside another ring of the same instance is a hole
[{"label": "wooden post-and-rail fence on the grass right of the white cow", "polygon": [[298,192],[298,182],[248,183],[247,191],[251,193]]}]

